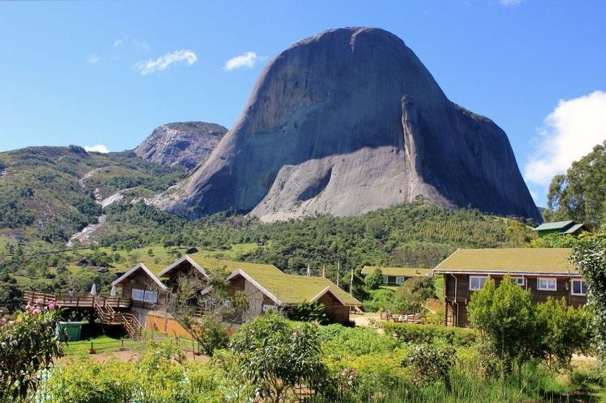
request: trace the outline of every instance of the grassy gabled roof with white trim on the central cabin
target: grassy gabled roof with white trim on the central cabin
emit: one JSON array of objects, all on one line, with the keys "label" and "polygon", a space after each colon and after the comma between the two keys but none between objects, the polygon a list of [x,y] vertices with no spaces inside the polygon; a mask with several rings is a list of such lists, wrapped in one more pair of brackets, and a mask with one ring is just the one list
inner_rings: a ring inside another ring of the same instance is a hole
[{"label": "grassy gabled roof with white trim on the central cabin", "polygon": [[250,281],[277,305],[313,302],[326,293],[335,296],[343,305],[361,305],[360,301],[324,277],[287,275],[275,266],[266,266],[238,268],[227,279],[238,275]]}]

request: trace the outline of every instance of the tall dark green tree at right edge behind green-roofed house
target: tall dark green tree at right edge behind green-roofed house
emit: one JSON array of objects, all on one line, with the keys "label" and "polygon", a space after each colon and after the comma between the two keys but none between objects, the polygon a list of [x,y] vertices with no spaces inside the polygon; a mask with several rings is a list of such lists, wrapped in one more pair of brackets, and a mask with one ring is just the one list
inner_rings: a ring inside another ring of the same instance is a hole
[{"label": "tall dark green tree at right edge behind green-roofed house", "polygon": [[565,175],[556,175],[549,186],[547,205],[553,219],[573,219],[597,228],[606,207],[606,141],[573,162]]}]

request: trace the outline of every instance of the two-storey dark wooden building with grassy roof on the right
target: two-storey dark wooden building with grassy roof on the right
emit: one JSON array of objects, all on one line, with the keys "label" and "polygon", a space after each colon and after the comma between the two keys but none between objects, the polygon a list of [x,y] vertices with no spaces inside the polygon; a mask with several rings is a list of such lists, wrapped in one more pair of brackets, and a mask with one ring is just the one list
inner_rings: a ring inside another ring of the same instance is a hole
[{"label": "two-storey dark wooden building with grassy roof on the right", "polygon": [[488,278],[496,284],[505,275],[536,303],[564,297],[568,305],[587,303],[587,285],[569,261],[570,248],[459,249],[433,269],[444,275],[444,322],[468,326],[467,304]]}]

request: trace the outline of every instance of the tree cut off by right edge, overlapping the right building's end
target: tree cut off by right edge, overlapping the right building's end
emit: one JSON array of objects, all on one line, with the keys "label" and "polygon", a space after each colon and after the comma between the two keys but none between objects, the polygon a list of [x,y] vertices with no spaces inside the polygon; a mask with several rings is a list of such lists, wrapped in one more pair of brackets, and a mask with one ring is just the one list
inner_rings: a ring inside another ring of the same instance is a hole
[{"label": "tree cut off by right edge, overlapping the right building's end", "polygon": [[598,234],[586,236],[574,246],[571,260],[581,268],[589,290],[587,301],[594,311],[593,331],[598,352],[606,361],[606,226]]}]

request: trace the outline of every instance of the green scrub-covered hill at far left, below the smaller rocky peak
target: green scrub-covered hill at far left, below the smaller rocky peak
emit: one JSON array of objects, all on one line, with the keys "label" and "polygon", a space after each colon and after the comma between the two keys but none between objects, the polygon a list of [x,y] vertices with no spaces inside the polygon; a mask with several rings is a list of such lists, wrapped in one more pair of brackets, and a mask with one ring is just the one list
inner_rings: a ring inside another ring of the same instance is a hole
[{"label": "green scrub-covered hill at far left, below the smaller rocky peak", "polygon": [[181,168],[145,162],[133,152],[88,153],[72,145],[0,153],[0,236],[62,244],[95,224],[101,201],[116,192],[127,189],[115,198],[130,201],[184,177]]}]

